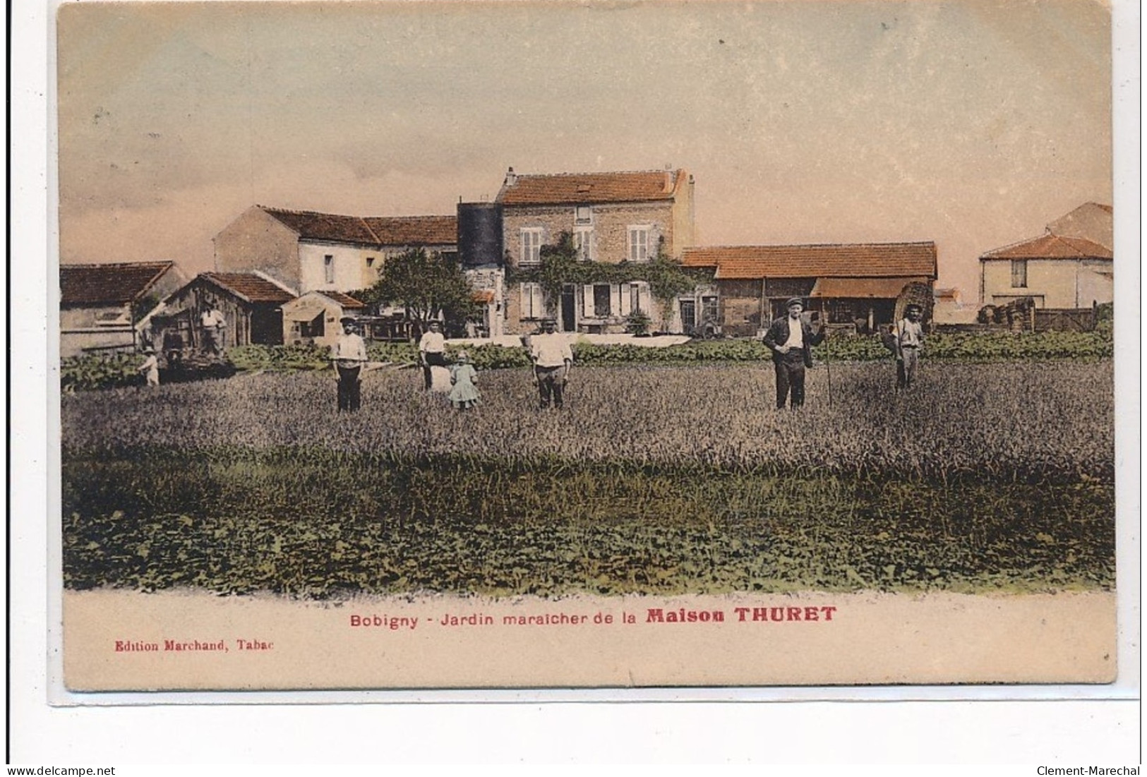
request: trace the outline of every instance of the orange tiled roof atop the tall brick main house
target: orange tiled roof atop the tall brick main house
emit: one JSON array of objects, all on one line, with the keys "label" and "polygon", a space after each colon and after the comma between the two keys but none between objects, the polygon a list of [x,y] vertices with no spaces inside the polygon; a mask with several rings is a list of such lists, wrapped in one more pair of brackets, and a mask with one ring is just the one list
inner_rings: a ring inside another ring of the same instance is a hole
[{"label": "orange tiled roof atop the tall brick main house", "polygon": [[515,175],[502,185],[497,201],[504,205],[655,202],[672,199],[687,179],[684,170]]}]

